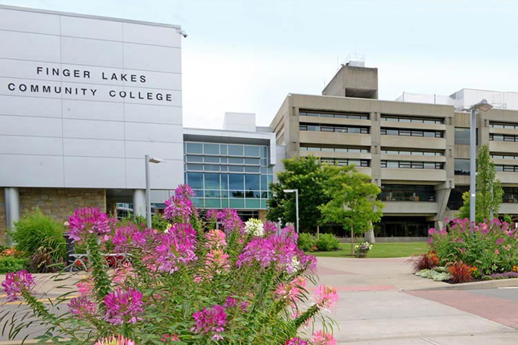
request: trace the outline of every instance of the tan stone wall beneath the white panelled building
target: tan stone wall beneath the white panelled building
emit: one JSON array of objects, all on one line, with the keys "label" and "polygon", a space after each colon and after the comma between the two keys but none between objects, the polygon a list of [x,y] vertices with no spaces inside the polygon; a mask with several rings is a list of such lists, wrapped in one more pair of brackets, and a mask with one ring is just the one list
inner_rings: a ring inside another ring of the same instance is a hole
[{"label": "tan stone wall beneath the white panelled building", "polygon": [[[19,188],[20,217],[39,207],[44,215],[64,223],[80,207],[98,207],[106,212],[106,190],[92,188]],[[6,244],[6,209],[0,188],[0,244]]]}]

